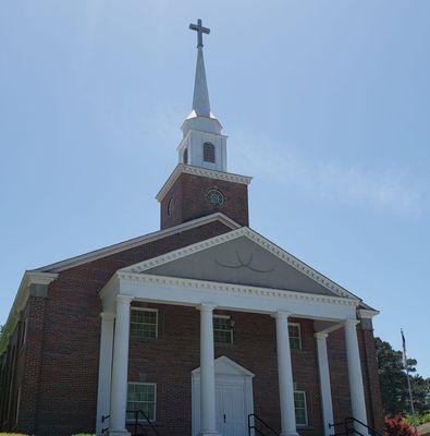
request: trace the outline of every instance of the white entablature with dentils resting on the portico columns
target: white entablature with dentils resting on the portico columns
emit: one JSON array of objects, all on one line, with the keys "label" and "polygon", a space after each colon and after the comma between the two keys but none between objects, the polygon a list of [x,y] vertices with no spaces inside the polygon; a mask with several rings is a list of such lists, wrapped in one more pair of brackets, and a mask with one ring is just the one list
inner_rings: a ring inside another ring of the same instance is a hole
[{"label": "white entablature with dentils resting on the portico columns", "polygon": [[118,295],[157,304],[199,306],[272,315],[278,311],[292,316],[340,322],[356,319],[359,300],[306,292],[256,288],[213,281],[116,272],[100,291],[105,312],[114,312]]}]

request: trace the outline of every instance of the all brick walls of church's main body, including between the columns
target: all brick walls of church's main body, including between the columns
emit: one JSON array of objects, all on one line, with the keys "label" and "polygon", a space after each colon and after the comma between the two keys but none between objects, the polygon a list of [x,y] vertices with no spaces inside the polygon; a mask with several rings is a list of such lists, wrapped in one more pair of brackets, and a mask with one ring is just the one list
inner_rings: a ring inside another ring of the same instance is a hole
[{"label": "all brick walls of church's main body, including between the columns", "polygon": [[[16,428],[36,436],[93,432],[101,312],[98,291],[122,267],[226,231],[230,228],[217,221],[70,268],[49,286],[46,298],[32,295],[20,324],[24,325],[24,319],[27,323],[23,351],[19,350],[17,328],[3,358],[7,359],[3,385],[8,389],[2,391],[10,390],[12,399],[1,398],[1,428]],[[191,372],[199,366],[199,313],[193,307],[151,306],[159,308],[159,338],[131,339],[128,379],[157,383],[157,425],[162,435],[189,435]],[[229,314],[235,320],[234,344],[217,347],[216,355],[226,355],[255,373],[255,412],[279,428],[274,319],[243,312]],[[309,319],[292,320],[300,324],[303,339],[303,351],[292,354],[294,379],[297,389],[306,391],[308,404],[309,427],[300,433],[320,435],[321,398],[314,324]],[[379,422],[382,409],[372,331],[360,330],[359,341],[369,422],[370,416]],[[342,329],[329,335],[328,349],[334,417],[339,421],[351,415]],[[19,386],[22,399],[15,426]]]}]

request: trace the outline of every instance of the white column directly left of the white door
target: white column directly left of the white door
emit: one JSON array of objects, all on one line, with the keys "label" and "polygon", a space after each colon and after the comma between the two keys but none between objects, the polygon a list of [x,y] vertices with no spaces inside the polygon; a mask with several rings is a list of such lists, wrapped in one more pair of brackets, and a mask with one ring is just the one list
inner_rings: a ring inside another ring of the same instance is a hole
[{"label": "white column directly left of the white door", "polygon": [[200,311],[200,435],[219,435],[216,416],[213,352],[213,306],[201,304]]}]

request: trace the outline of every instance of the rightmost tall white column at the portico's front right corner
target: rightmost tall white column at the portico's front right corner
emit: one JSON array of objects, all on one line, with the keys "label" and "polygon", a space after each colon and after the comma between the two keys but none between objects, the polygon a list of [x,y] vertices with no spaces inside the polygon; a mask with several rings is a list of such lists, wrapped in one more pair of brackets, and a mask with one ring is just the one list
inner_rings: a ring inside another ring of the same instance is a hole
[{"label": "rightmost tall white column at the portico's front right corner", "polygon": [[[366,400],[361,375],[361,360],[358,349],[356,328],[358,323],[359,322],[356,319],[345,319],[344,322],[346,359],[348,362],[349,395],[353,417],[361,421],[364,424],[367,425]],[[365,428],[363,428],[360,425],[356,425],[356,429],[361,434],[366,434]]]}]

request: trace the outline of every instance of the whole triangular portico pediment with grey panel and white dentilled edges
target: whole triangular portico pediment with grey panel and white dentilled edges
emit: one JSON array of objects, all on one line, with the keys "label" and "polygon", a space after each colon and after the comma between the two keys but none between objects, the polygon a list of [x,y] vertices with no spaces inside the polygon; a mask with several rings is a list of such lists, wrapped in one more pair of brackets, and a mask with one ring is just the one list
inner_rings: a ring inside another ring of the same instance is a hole
[{"label": "whole triangular portico pediment with grey panel and white dentilled edges", "polygon": [[123,271],[357,299],[249,228],[189,245]]}]

